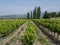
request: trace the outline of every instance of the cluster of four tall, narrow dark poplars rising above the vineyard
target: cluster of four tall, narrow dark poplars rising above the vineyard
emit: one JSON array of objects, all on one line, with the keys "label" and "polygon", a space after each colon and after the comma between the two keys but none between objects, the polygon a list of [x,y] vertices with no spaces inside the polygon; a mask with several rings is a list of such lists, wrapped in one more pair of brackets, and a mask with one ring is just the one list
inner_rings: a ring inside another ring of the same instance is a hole
[{"label": "cluster of four tall, narrow dark poplars rising above the vineyard", "polygon": [[27,12],[27,18],[28,19],[40,19],[41,16],[41,8],[35,7],[33,11]]}]

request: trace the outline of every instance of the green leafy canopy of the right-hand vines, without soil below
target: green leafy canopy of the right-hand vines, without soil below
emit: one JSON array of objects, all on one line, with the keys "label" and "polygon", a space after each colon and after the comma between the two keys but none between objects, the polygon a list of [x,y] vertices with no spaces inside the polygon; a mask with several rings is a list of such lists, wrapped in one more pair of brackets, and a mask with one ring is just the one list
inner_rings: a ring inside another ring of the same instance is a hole
[{"label": "green leafy canopy of the right-hand vines, without soil below", "polygon": [[42,25],[43,27],[50,29],[50,31],[54,32],[54,36],[55,36],[55,33],[60,35],[60,20],[46,19],[46,20],[36,20],[36,22]]}]

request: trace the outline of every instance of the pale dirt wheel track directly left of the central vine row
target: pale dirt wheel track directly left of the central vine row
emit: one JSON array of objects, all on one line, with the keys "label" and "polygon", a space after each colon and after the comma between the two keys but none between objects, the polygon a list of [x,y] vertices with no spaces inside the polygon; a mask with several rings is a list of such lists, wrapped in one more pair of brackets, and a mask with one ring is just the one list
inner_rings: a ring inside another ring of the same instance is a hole
[{"label": "pale dirt wheel track directly left of the central vine row", "polygon": [[[27,24],[28,24],[28,23],[27,23]],[[24,35],[24,32],[26,31],[27,24],[24,26],[24,28],[22,28],[23,31],[21,31],[21,33],[19,33],[19,34],[17,35],[17,38],[18,38],[18,39],[17,39],[15,42],[11,43],[10,45],[22,45],[22,44],[23,44],[23,43],[21,42],[21,38],[22,38],[22,36]]]}]

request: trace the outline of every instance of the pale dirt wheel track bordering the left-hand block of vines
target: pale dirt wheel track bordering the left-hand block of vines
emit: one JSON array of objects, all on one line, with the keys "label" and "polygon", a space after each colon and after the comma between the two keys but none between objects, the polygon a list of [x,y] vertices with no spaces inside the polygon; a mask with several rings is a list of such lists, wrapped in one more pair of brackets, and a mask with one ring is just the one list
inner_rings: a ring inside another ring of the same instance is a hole
[{"label": "pale dirt wheel track bordering the left-hand block of vines", "polygon": [[22,26],[20,26],[18,29],[16,29],[16,30],[14,31],[14,34],[13,34],[13,35],[8,36],[8,37],[2,39],[2,40],[0,41],[0,45],[5,45],[6,42],[9,42],[13,37],[15,37],[15,36],[21,31],[21,29],[22,29],[25,25],[26,25],[26,23],[24,23]]}]

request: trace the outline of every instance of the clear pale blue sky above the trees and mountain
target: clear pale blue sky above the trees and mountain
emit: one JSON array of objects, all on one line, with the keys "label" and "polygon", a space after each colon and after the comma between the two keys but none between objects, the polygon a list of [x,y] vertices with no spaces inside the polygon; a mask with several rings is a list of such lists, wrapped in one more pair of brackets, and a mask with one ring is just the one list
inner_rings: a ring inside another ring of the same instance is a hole
[{"label": "clear pale blue sky above the trees and mountain", "polygon": [[41,12],[58,12],[60,0],[0,0],[0,15],[26,14],[37,6]]}]

